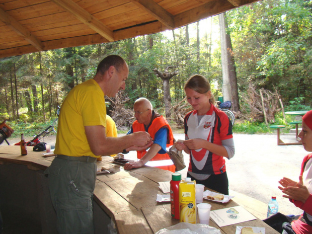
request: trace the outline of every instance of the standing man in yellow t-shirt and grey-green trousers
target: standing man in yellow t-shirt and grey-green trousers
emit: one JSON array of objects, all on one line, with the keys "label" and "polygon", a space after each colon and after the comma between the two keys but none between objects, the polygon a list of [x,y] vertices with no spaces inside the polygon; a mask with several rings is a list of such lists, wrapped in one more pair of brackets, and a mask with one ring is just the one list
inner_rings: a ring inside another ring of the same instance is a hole
[{"label": "standing man in yellow t-shirt and grey-green trousers", "polygon": [[106,136],[104,95],[114,97],[124,90],[128,74],[124,59],[107,56],[94,78],[74,87],[62,103],[54,150],[57,155],[45,171],[59,234],[94,233],[92,202],[100,155],[152,144],[147,132]]}]

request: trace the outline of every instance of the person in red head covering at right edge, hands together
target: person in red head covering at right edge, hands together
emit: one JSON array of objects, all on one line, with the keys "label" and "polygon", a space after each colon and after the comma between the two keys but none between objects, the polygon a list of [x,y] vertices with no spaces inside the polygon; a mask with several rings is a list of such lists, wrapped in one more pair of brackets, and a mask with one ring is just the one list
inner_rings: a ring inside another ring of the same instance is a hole
[{"label": "person in red head covering at right edge, hands together", "polygon": [[[302,130],[298,136],[304,149],[312,152],[312,110],[302,117]],[[283,197],[302,209],[303,213],[293,217],[277,213],[264,221],[283,234],[312,233],[312,153],[303,159],[298,182],[284,177],[279,183]]]}]

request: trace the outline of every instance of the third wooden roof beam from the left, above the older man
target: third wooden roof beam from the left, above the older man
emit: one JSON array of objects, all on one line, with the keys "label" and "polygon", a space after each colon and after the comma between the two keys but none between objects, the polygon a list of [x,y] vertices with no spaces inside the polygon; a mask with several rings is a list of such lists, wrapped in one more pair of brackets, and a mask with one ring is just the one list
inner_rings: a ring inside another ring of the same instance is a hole
[{"label": "third wooden roof beam from the left, above the older man", "polygon": [[174,16],[167,12],[164,8],[159,6],[153,0],[130,0],[139,8],[148,12],[148,14],[155,17],[158,21],[163,23],[167,28],[175,28]]}]

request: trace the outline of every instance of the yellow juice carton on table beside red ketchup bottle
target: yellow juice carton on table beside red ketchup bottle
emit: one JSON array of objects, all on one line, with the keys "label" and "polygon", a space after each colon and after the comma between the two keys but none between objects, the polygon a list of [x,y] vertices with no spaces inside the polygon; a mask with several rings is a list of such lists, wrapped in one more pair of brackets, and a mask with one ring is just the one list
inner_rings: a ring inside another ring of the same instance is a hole
[{"label": "yellow juice carton on table beside red ketchup bottle", "polygon": [[196,224],[195,181],[179,184],[180,222]]}]

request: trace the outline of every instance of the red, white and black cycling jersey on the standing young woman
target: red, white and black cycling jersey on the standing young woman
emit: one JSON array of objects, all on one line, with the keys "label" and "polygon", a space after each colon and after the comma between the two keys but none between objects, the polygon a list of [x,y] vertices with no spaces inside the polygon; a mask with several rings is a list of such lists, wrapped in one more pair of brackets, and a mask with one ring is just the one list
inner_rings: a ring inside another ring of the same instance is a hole
[{"label": "red, white and black cycling jersey on the standing young woman", "polygon": [[[201,138],[218,145],[233,137],[228,117],[213,105],[199,123],[196,110],[188,113],[184,118],[184,130],[189,139]],[[207,149],[192,149],[188,170],[196,174],[221,174],[225,172],[225,160]]]}]

